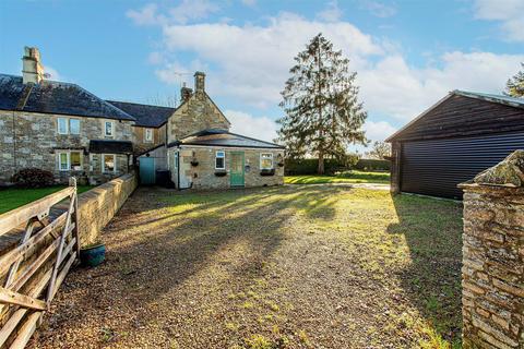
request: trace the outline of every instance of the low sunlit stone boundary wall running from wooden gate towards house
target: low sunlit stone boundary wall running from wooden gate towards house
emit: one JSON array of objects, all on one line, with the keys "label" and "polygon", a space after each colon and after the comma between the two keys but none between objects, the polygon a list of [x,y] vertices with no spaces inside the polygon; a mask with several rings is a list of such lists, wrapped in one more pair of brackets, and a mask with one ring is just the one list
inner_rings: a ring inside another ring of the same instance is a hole
[{"label": "low sunlit stone boundary wall running from wooden gate towards house", "polygon": [[138,186],[138,176],[128,173],[79,195],[80,242],[86,246],[122,207]]}]

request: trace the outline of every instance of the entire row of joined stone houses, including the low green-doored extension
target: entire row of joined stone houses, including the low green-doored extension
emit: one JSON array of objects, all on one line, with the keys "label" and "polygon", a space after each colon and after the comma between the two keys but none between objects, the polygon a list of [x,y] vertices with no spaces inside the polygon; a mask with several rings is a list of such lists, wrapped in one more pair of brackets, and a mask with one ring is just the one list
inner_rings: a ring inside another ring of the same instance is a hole
[{"label": "entire row of joined stone houses, including the low green-doored extension", "polygon": [[[140,166],[179,189],[283,184],[284,148],[229,132],[230,122],[194,74],[177,108],[104,100],[70,83],[45,80],[36,48],[25,48],[23,76],[0,74],[0,183],[37,167],[92,184]],[[145,181],[148,178],[148,182]]]}]

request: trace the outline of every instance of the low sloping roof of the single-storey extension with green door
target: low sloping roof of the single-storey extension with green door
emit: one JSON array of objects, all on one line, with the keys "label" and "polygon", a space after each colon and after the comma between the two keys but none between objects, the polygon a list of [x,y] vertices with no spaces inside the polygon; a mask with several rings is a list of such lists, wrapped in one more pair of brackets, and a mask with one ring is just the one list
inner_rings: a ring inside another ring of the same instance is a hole
[{"label": "low sloping roof of the single-storey extension with green door", "polygon": [[227,130],[209,129],[193,133],[178,142],[172,142],[168,146],[178,145],[201,145],[201,146],[219,146],[219,147],[245,147],[245,148],[275,148],[284,147],[265,141],[247,137],[240,134],[231,133]]}]

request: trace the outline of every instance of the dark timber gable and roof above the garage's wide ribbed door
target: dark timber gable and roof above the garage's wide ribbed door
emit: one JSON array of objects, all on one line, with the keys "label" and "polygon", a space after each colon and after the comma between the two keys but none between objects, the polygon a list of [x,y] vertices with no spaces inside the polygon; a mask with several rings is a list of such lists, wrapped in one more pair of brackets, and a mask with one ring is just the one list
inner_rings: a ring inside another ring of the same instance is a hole
[{"label": "dark timber gable and roof above the garage's wide ribbed door", "polygon": [[524,98],[452,91],[386,142],[524,130]]}]

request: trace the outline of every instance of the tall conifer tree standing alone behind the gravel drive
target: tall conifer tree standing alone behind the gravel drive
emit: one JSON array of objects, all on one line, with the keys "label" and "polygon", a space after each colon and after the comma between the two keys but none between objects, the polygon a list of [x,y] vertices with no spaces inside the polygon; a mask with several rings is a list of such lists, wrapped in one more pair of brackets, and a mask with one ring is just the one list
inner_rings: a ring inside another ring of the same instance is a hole
[{"label": "tall conifer tree standing alone behind the gravel drive", "polygon": [[361,130],[367,112],[358,101],[357,73],[322,34],[295,61],[281,93],[285,116],[277,120],[278,141],[290,157],[317,156],[322,174],[326,157],[344,157],[349,144],[367,143]]}]

